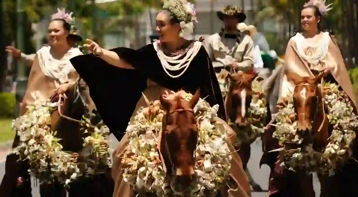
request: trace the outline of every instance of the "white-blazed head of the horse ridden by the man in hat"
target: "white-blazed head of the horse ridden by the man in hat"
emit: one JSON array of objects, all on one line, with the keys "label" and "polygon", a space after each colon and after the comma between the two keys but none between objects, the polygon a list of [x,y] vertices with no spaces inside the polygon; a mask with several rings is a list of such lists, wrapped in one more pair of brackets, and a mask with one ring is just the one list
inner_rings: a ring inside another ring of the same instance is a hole
[{"label": "white-blazed head of the horse ridden by the man in hat", "polygon": [[256,77],[257,73],[253,69],[228,75],[230,87],[227,101],[231,104],[228,108],[233,110],[228,116],[237,126],[246,126],[248,123],[246,114],[252,99],[251,84]]}]

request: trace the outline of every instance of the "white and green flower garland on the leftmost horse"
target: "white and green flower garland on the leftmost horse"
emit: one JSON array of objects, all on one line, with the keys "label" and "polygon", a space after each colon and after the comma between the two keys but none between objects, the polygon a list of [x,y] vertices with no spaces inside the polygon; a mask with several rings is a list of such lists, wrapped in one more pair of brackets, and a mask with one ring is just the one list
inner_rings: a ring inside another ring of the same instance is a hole
[{"label": "white and green flower garland on the leftmost horse", "polygon": [[[62,151],[61,139],[50,129],[50,115],[57,103],[40,101],[28,105],[25,115],[13,121],[12,127],[20,137],[20,145],[13,152],[20,160],[28,160],[29,173],[39,179],[40,184],[58,181],[68,186],[81,176],[104,173],[111,166],[107,137],[109,129],[103,124],[96,126],[83,117],[84,143],[80,153]],[[89,132],[92,128],[94,131]]]}]

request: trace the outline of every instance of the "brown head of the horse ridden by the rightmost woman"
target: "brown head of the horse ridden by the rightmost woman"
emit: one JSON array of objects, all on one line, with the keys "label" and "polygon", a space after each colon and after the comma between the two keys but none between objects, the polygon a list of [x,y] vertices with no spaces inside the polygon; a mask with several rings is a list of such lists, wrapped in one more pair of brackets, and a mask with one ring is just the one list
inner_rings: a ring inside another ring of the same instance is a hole
[{"label": "brown head of the horse ridden by the rightmost woman", "polygon": [[296,74],[290,75],[291,80],[295,84],[293,102],[298,135],[309,138],[315,136],[314,122],[320,117],[319,112],[322,111],[320,107],[323,105],[322,95],[318,85],[328,72],[320,72],[315,77],[300,77]]}]

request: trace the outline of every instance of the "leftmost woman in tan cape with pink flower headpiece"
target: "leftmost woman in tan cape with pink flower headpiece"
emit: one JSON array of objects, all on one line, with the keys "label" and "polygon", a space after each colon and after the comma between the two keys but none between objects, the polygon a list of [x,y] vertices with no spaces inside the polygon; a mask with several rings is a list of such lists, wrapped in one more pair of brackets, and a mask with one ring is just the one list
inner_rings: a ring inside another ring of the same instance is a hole
[{"label": "leftmost woman in tan cape with pink flower headpiece", "polygon": [[[79,75],[69,59],[83,54],[74,45],[75,42],[81,41],[82,38],[76,33],[75,21],[72,17],[73,13],[66,13],[65,9],[57,9],[57,11],[52,15],[52,20],[48,27],[49,45],[39,49],[35,54],[35,58],[31,60],[33,64],[28,87],[23,98],[24,104],[20,109],[20,116],[25,114],[26,106],[33,104],[35,99],[46,101],[55,94],[62,95],[73,87],[79,79]],[[33,92],[38,92],[37,98],[33,97]],[[88,100],[84,102],[94,106]],[[18,146],[19,143],[20,137],[16,134],[13,148]],[[0,186],[1,197],[32,196],[31,177],[28,172],[29,164],[24,161],[18,161],[18,159],[19,156],[14,153],[9,154],[6,158],[5,175]],[[112,182],[110,179],[105,183],[109,186],[107,189],[110,194],[113,189],[113,187],[110,187]],[[90,191],[91,186],[74,188],[74,190],[76,189]],[[72,194],[70,191],[69,193],[70,196],[78,196],[84,194],[82,191],[74,191]],[[66,190],[61,184],[57,183],[40,184],[40,195],[42,197],[62,197],[66,196]]]}]

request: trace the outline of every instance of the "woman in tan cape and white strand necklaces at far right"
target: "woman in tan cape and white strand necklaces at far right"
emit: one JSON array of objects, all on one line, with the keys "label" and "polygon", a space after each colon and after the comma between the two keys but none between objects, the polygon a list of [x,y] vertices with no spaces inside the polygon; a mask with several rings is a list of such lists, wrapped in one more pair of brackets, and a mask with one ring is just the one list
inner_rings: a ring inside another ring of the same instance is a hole
[{"label": "woman in tan cape and white strand necklaces at far right", "polygon": [[[279,96],[276,98],[285,97],[293,92],[295,86],[290,76],[314,77],[314,74],[320,71],[330,71],[325,80],[336,82],[340,85],[353,102],[356,113],[357,101],[337,42],[329,32],[319,30],[321,17],[326,11],[330,10],[329,6],[325,6],[323,1],[317,0],[309,1],[304,5],[301,11],[303,32],[292,37],[287,45],[285,63],[280,68],[281,71],[277,76],[279,79],[276,80],[276,82],[279,82],[276,84],[279,85],[279,91],[277,91]],[[276,111],[274,110],[273,112]],[[280,166],[280,162],[276,162],[276,165],[273,165],[272,161],[277,160],[277,152],[267,152],[279,147],[277,147],[277,141],[272,138],[273,131],[269,131],[265,135],[264,155],[266,158],[263,156],[262,162],[271,164],[270,196],[314,197],[312,176],[300,176],[299,173],[283,169],[284,167]],[[267,157],[269,154],[271,155]],[[270,160],[265,160],[264,158],[269,158]],[[343,190],[345,191],[344,196],[358,195],[357,191],[353,189],[357,188],[357,178],[352,176],[358,171],[357,163],[348,162],[339,170],[333,177],[320,180],[322,197],[342,196]],[[298,176],[301,179],[300,182],[297,179]]]}]

